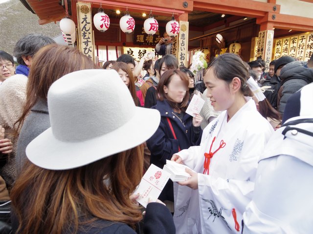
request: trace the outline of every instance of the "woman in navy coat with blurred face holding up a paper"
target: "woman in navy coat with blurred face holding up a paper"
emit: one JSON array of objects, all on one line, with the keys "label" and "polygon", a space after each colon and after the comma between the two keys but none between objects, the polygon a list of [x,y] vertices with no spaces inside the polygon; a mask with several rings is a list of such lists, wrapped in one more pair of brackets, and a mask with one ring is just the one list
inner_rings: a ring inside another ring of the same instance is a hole
[{"label": "woman in navy coat with blurred face holding up a paper", "polygon": [[[156,133],[147,140],[147,146],[151,151],[150,162],[160,168],[173,154],[198,145],[201,140],[202,117],[185,113],[189,98],[188,83],[183,72],[168,70],[163,73],[156,89],[157,102],[152,108],[160,112],[161,122]],[[159,199],[174,201],[172,181],[167,183]]]}]

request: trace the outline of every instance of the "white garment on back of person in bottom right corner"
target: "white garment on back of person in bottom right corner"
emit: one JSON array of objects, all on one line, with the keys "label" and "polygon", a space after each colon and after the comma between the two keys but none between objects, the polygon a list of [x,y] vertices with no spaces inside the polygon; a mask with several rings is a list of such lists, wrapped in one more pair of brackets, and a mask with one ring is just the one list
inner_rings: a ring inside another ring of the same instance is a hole
[{"label": "white garment on back of person in bottom right corner", "polygon": [[[313,116],[293,117],[291,122]],[[313,133],[313,123],[295,126]],[[252,201],[244,213],[244,234],[313,232],[313,137],[286,127],[273,134],[258,166]],[[286,138],[285,138],[286,137]]]}]

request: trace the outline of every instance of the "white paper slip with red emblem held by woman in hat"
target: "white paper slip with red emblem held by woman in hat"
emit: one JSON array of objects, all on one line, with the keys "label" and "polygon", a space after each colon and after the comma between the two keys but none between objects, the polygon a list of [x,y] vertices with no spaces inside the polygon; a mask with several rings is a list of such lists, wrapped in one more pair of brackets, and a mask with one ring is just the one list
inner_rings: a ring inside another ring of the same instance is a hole
[{"label": "white paper slip with red emblem held by woman in hat", "polygon": [[134,191],[134,194],[140,194],[136,201],[146,208],[149,198],[156,201],[169,178],[169,173],[151,164]]}]

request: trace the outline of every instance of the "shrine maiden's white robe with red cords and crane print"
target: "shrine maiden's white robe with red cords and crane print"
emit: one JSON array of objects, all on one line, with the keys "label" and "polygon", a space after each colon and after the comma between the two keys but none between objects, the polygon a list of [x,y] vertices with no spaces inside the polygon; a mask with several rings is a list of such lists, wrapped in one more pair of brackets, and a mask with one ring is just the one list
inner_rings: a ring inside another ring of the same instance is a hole
[{"label": "shrine maiden's white robe with red cords and crane print", "polygon": [[[177,234],[241,233],[258,158],[273,133],[252,98],[246,101],[228,122],[227,111],[213,120],[204,129],[200,146],[176,154],[198,173],[197,190],[174,183]],[[204,154],[210,152],[210,147],[211,152],[220,149],[210,160],[209,175],[203,175]]]}]

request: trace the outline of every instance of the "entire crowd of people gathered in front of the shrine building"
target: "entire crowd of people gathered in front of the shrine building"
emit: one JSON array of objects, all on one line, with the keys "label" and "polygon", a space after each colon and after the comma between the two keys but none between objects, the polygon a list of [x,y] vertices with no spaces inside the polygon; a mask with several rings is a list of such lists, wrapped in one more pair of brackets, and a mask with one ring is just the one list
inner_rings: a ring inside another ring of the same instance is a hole
[{"label": "entire crowd of people gathered in front of the shrine building", "polygon": [[[313,56],[265,72],[226,53],[196,83],[165,39],[160,59],[103,67],[37,34],[16,43],[16,61],[0,51],[0,233],[313,230]],[[134,190],[166,160],[190,178],[144,209]]]}]

